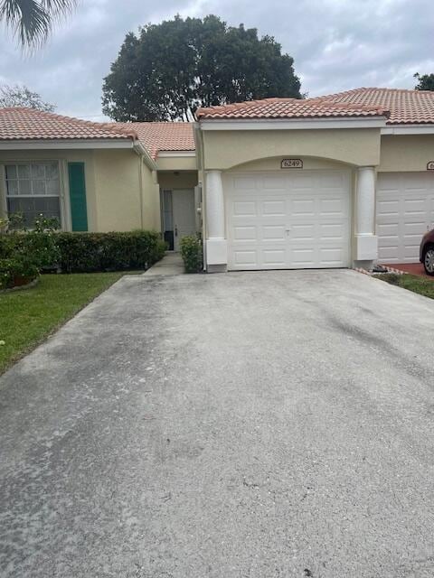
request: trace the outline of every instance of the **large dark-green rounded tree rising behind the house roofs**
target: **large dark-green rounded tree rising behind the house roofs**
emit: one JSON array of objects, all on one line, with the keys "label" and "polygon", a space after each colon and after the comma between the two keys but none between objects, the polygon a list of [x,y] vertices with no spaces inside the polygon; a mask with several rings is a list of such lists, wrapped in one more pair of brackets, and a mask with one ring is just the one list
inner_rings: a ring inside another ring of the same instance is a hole
[{"label": "large dark-green rounded tree rising behind the house roofs", "polygon": [[200,106],[301,98],[293,62],[255,28],[178,15],[127,34],[104,79],[103,111],[118,121],[191,120]]}]

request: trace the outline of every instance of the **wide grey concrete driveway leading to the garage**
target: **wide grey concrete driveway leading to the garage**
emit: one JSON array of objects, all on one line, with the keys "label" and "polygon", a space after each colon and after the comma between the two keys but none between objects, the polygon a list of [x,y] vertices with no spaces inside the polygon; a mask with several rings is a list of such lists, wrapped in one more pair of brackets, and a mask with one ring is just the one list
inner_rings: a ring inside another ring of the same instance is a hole
[{"label": "wide grey concrete driveway leading to the garage", "polygon": [[434,302],[124,277],[0,379],[2,578],[434,575]]}]

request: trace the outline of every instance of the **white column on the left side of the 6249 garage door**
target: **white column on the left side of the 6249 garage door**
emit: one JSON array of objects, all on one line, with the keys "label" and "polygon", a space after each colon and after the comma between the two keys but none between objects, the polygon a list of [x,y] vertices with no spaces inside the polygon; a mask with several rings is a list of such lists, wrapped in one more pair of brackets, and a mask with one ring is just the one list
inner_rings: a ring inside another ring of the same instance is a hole
[{"label": "white column on the left side of the 6249 garage door", "polygon": [[206,172],[205,185],[206,264],[210,272],[222,271],[228,263],[228,247],[224,235],[222,172]]}]

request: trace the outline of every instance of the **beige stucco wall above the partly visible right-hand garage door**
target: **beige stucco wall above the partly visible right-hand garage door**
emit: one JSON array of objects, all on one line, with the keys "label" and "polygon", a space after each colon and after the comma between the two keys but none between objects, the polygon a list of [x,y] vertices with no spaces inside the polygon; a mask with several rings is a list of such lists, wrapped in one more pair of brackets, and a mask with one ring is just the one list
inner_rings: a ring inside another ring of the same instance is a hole
[{"label": "beige stucco wall above the partly visible right-hand garage door", "polygon": [[379,172],[426,171],[434,161],[434,135],[382,135]]}]

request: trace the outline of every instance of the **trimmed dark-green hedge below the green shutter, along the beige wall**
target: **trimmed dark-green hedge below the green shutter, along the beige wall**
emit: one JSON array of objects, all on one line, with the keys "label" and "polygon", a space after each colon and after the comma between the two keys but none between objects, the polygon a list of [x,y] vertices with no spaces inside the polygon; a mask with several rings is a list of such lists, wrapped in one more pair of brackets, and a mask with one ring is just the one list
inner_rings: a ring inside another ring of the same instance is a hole
[{"label": "trimmed dark-green hedge below the green shutter, along the beige wall", "polygon": [[59,266],[65,273],[146,269],[165,255],[156,231],[127,233],[55,233]]}]

